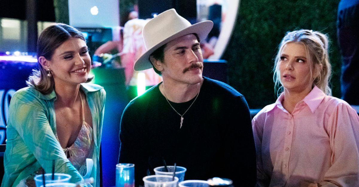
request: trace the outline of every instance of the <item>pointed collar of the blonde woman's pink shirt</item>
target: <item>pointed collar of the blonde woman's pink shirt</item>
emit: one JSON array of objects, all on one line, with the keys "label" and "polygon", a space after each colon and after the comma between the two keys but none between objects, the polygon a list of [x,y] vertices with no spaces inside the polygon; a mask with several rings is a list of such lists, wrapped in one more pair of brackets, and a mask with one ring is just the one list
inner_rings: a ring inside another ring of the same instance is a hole
[{"label": "pointed collar of the blonde woman's pink shirt", "polygon": [[[322,100],[324,99],[324,97],[325,97],[325,93],[317,86],[314,86],[312,91],[309,92],[309,94],[306,97],[304,97],[302,101],[306,103],[309,109],[311,109],[312,113],[314,113],[315,110],[320,105],[320,103],[322,102]],[[284,93],[281,93],[274,104],[270,104],[265,107],[264,112],[265,113],[270,112],[275,107],[278,107],[279,109],[283,109],[283,105],[282,105],[283,99],[284,99]]]}]

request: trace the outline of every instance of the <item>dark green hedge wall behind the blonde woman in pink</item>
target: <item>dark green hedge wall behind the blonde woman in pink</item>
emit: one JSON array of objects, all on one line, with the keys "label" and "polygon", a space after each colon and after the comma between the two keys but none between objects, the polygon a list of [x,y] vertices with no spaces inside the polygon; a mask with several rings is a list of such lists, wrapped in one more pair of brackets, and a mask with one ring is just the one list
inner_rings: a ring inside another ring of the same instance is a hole
[{"label": "dark green hedge wall behind the blonde woman in pink", "polygon": [[233,35],[222,56],[228,61],[229,84],[250,108],[274,103],[274,57],[286,31],[312,29],[330,37],[332,90],[340,97],[340,54],[336,38],[339,0],[241,0]]}]

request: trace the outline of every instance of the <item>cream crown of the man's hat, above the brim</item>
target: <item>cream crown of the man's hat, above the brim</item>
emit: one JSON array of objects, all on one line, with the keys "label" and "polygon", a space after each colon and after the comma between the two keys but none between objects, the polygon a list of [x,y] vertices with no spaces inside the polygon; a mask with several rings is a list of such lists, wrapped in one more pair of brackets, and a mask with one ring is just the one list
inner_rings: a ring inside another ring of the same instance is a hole
[{"label": "cream crown of the man's hat, above the brim", "polygon": [[143,28],[142,35],[146,50],[189,26],[191,23],[180,16],[176,10],[164,11],[148,21]]}]

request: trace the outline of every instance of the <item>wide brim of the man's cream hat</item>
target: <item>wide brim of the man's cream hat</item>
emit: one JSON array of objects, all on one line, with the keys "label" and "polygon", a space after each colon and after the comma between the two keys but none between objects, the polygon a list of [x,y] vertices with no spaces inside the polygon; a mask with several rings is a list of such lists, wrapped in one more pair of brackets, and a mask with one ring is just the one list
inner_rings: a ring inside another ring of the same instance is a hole
[{"label": "wide brim of the man's cream hat", "polygon": [[152,46],[143,55],[141,55],[140,58],[138,58],[134,64],[134,70],[141,71],[141,70],[152,68],[151,62],[149,60],[150,55],[156,49],[160,48],[162,45],[167,44],[168,42],[176,38],[192,33],[196,33],[200,38],[200,40],[204,40],[206,39],[207,35],[212,30],[212,28],[213,28],[212,21],[201,21],[200,23],[193,24],[185,29],[178,31],[177,33],[174,33],[172,36],[168,37],[163,41],[160,41],[158,44]]}]

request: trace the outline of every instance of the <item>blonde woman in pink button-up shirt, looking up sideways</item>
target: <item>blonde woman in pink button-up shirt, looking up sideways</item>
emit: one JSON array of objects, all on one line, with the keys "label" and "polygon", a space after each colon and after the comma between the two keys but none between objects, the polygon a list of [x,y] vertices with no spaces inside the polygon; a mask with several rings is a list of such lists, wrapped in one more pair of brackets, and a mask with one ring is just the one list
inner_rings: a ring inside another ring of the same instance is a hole
[{"label": "blonde woman in pink button-up shirt, looking up sideways", "polygon": [[288,32],[275,59],[281,94],[252,120],[257,186],[359,186],[359,117],[332,97],[328,38]]}]

